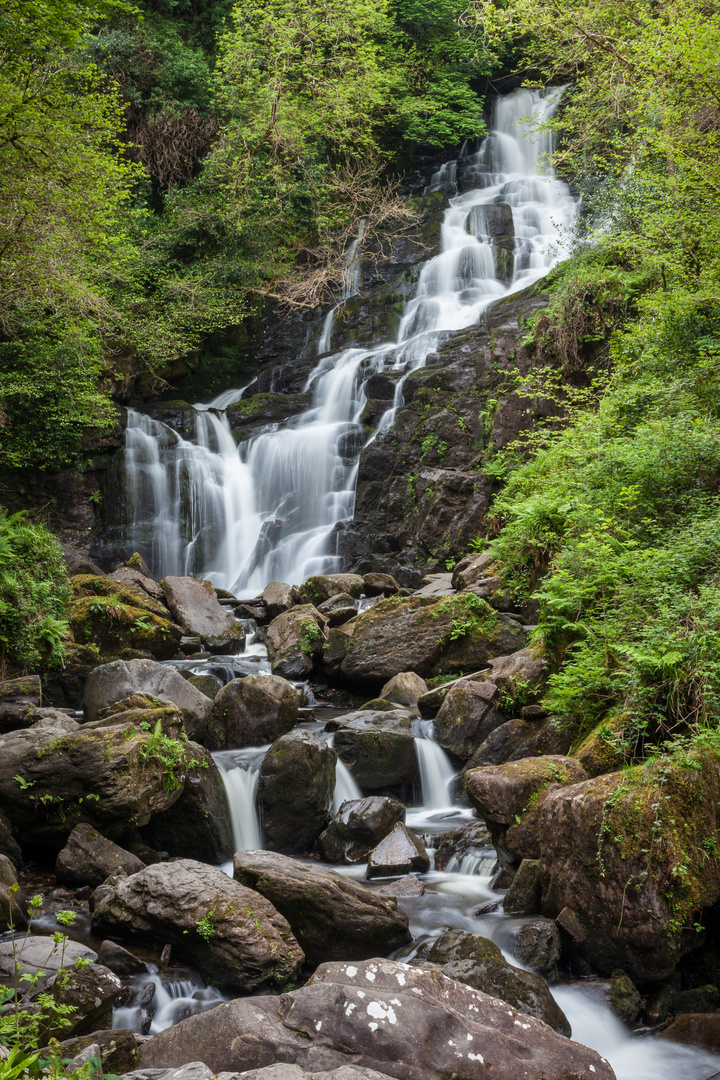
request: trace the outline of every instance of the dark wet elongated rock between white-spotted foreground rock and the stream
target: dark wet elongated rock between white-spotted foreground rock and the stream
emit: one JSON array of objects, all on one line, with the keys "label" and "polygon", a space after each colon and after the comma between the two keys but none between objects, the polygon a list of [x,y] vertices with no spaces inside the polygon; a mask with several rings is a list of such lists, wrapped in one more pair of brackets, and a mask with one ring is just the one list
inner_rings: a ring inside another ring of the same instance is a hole
[{"label": "dark wet elongated rock between white-spotted foreground rock and the stream", "polygon": [[570,1036],[568,1018],[544,978],[513,968],[494,942],[465,930],[446,930],[430,950],[429,962],[449,978],[501,998],[525,1013]]}]

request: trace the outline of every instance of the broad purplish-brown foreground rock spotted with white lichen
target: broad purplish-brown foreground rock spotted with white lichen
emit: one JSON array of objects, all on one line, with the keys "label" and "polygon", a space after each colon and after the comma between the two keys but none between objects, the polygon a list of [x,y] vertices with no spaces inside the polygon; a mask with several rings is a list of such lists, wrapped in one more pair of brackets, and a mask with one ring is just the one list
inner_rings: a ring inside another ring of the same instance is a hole
[{"label": "broad purplish-brown foreground rock spotted with white lichen", "polygon": [[300,990],[191,1016],[148,1040],[140,1065],[198,1058],[216,1074],[280,1061],[313,1072],[352,1064],[397,1080],[613,1080],[595,1051],[506,1002],[391,960],[323,964]]}]

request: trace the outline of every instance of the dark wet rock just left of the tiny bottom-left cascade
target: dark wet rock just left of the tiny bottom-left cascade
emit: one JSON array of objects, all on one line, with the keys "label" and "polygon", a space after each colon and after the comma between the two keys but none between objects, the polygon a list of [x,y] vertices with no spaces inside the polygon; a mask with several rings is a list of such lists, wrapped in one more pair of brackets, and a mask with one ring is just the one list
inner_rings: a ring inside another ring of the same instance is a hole
[{"label": "dark wet rock just left of the tiny bottom-left cascade", "polygon": [[99,963],[80,969],[66,966],[51,978],[42,993],[49,994],[57,1005],[69,1008],[66,1018],[70,1023],[60,1025],[59,1017],[51,1013],[50,1022],[40,1027],[39,1045],[46,1047],[51,1039],[60,1035],[72,1038],[107,1027],[122,988],[118,976]]}]

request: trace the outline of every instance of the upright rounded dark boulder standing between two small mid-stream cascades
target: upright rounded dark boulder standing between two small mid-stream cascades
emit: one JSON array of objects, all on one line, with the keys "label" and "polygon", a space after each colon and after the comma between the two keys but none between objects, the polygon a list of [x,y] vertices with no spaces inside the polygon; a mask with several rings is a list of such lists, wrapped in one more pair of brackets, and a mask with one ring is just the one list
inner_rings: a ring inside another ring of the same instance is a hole
[{"label": "upright rounded dark boulder standing between two small mid-stream cascades", "polygon": [[337,754],[303,729],[277,739],[260,766],[258,802],[271,851],[312,851],[329,820]]}]

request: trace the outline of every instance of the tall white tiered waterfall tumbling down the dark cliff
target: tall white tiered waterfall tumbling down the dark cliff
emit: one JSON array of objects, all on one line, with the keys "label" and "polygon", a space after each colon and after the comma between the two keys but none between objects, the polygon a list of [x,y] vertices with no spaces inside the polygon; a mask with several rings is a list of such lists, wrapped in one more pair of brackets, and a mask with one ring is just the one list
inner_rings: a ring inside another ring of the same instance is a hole
[{"label": "tall white tiered waterfall tumbling down the dark cliff", "polygon": [[[334,532],[354,512],[369,376],[398,376],[395,401],[380,422],[386,430],[403,404],[405,378],[429,353],[566,254],[575,203],[553,173],[551,135],[531,130],[553,113],[560,94],[518,90],[498,98],[479,150],[463,151],[435,174],[430,190],[451,195],[441,249],[423,266],[396,340],[328,353],[334,309],[318,342],[327,354],[308,378],[312,404],[303,415],[235,449],[222,414],[237,400],[232,392],[198,413],[194,442],[131,414],[125,515],[139,523],[131,550],[158,576],[202,575],[254,593],[273,579],[297,584],[342,568]],[[361,239],[348,252],[340,303],[357,289]]]}]

